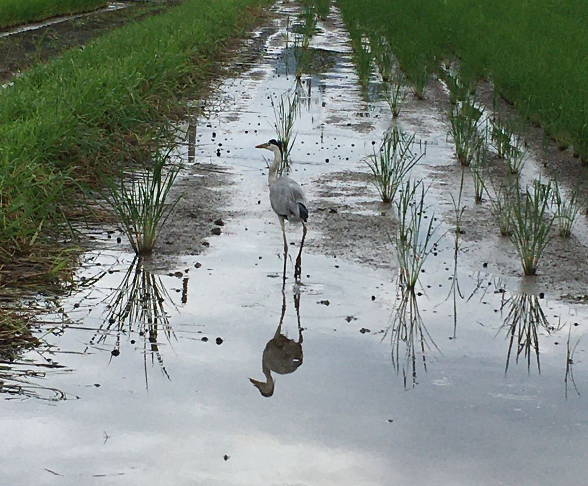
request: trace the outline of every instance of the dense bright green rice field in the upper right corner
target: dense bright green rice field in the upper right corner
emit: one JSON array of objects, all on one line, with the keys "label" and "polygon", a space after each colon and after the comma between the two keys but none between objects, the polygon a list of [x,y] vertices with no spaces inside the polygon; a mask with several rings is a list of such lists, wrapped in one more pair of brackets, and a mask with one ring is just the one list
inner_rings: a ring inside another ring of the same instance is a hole
[{"label": "dense bright green rice field in the upper right corner", "polygon": [[588,161],[588,11],[580,0],[339,0],[350,29],[384,35],[407,76],[457,58]]}]

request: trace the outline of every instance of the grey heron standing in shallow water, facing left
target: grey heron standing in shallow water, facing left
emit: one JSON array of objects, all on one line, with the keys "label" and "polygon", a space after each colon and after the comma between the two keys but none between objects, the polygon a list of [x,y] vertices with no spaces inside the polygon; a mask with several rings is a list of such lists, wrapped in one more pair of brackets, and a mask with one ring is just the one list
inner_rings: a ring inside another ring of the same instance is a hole
[{"label": "grey heron standing in shallow water, facing left", "polygon": [[272,139],[268,143],[262,143],[255,146],[256,149],[266,149],[273,152],[273,163],[269,166],[269,202],[273,211],[278,215],[280,226],[282,227],[282,236],[284,238],[284,273],[283,282],[286,281],[286,258],[288,257],[288,241],[286,240],[285,221],[289,223],[302,222],[302,241],[300,241],[300,250],[296,257],[296,266],[294,269],[294,278],[296,282],[300,281],[302,272],[302,247],[306,238],[306,221],[308,220],[308,207],[306,197],[302,187],[296,181],[288,176],[277,176],[278,167],[282,163],[282,142]]}]

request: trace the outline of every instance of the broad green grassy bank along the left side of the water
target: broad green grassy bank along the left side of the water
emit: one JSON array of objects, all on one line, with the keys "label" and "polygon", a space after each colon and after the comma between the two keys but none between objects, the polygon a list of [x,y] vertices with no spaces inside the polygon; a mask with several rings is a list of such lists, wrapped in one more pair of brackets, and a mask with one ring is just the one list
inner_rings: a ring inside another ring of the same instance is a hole
[{"label": "broad green grassy bank along the left side of the water", "polygon": [[[266,0],[186,0],[15,79],[0,98],[0,285],[31,261],[54,275],[79,184],[117,171],[165,131]],[[62,255],[62,256],[60,256]],[[2,275],[4,274],[4,281]]]}]

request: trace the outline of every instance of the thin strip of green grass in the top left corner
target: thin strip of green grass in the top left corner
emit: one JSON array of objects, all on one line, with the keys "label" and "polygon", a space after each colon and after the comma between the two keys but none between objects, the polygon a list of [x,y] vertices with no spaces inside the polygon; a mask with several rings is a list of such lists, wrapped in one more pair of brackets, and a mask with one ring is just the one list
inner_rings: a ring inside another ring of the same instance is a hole
[{"label": "thin strip of green grass in the top left corner", "polygon": [[88,12],[106,4],[105,0],[0,0],[0,29],[56,15]]}]

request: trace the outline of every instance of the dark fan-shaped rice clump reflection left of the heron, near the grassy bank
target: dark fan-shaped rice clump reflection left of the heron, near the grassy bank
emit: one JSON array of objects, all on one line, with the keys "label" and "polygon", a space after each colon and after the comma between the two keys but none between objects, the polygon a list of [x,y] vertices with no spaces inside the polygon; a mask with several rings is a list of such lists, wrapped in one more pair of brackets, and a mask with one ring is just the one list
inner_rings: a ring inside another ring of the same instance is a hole
[{"label": "dark fan-shaped rice clump reflection left of the heron, near the grassy bank", "polygon": [[121,284],[105,301],[108,309],[102,325],[96,329],[88,347],[109,344],[112,338],[112,356],[120,353],[121,336],[131,339],[132,333],[138,333],[143,340],[143,361],[145,363],[145,383],[147,386],[146,363],[151,355],[152,364],[161,367],[164,376],[169,374],[163,364],[158,339],[161,333],[171,343],[175,339],[166,305],[172,303],[171,296],[163,285],[161,278],[147,271],[141,259],[135,257],[126,271]]}]

